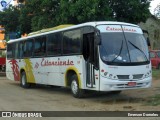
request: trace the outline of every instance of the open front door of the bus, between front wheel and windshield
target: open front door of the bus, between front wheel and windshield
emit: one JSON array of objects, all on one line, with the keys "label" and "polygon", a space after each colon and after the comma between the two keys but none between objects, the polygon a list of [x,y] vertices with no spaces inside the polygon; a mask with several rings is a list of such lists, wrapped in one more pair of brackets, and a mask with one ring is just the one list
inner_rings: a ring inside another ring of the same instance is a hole
[{"label": "open front door of the bus, between front wheel and windshield", "polygon": [[99,89],[98,76],[98,47],[95,42],[95,32],[83,34],[83,56],[86,69],[86,87]]}]

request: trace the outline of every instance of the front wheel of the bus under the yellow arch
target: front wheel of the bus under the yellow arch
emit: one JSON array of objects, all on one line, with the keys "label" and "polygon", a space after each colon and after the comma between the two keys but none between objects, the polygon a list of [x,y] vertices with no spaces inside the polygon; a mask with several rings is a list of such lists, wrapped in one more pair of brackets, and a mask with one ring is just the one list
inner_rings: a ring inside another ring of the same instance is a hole
[{"label": "front wheel of the bus under the yellow arch", "polygon": [[71,77],[71,92],[75,98],[81,98],[84,95],[84,90],[79,88],[77,75],[73,75]]}]

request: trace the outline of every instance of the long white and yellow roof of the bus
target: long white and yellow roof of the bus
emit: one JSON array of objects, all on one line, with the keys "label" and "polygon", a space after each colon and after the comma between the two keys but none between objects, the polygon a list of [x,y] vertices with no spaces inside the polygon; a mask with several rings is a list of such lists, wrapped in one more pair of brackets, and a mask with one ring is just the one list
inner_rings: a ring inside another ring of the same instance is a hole
[{"label": "long white and yellow roof of the bus", "polygon": [[[33,38],[33,37],[37,37],[37,36],[40,36],[40,35],[46,35],[46,34],[49,34],[49,33],[61,32],[61,31],[65,31],[65,30],[84,27],[84,26],[93,26],[93,27],[95,27],[97,25],[103,25],[103,24],[108,24],[108,25],[129,25],[129,26],[139,27],[138,25],[135,25],[135,24],[125,23],[125,22],[116,22],[116,21],[86,22],[86,23],[82,23],[82,24],[78,24],[78,25],[68,25],[68,26],[65,26],[65,27],[59,27],[59,26],[53,27],[53,28],[50,29],[51,31],[47,31],[47,29],[43,29],[44,32],[40,32],[41,30],[37,31],[37,33],[33,32],[33,33],[31,33],[31,35],[29,35],[27,37],[10,40],[10,41],[8,41],[8,43],[21,41],[21,40],[24,40],[24,39],[27,39],[27,38]],[[57,28],[57,29],[54,29],[54,28]],[[45,31],[47,31],[47,32],[45,32]]]}]

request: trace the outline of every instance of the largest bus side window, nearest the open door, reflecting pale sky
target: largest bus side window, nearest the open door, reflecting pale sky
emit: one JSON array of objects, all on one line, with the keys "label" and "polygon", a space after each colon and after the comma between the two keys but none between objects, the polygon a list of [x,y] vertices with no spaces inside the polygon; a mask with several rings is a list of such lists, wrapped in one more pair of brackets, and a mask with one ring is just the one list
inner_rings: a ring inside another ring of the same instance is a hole
[{"label": "largest bus side window, nearest the open door, reflecting pale sky", "polygon": [[63,35],[63,53],[79,54],[81,53],[81,30],[66,31]]}]

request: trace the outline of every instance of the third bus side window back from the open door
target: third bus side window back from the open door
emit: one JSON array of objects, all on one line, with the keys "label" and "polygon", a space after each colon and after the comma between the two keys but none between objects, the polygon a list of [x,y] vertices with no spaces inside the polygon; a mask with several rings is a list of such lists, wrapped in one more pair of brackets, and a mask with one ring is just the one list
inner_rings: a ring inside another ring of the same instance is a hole
[{"label": "third bus side window back from the open door", "polygon": [[46,54],[46,36],[35,38],[34,56],[45,56]]}]

